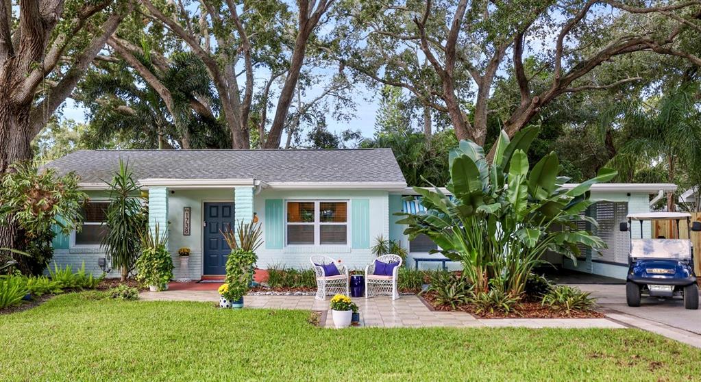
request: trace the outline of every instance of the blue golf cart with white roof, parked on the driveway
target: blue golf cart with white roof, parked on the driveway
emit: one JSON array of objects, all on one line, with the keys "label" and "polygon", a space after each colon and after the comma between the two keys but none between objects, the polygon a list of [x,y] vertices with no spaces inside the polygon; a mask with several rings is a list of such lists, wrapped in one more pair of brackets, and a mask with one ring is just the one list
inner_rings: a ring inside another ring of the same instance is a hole
[{"label": "blue golf cart with white roof, parked on the driveway", "polygon": [[[683,296],[684,308],[697,309],[699,292],[694,275],[693,245],[689,239],[643,238],[643,221],[667,220],[674,225],[676,237],[681,229],[701,231],[701,222],[690,224],[691,215],[686,212],[647,212],[628,214],[628,221],[620,224],[620,231],[631,232],[635,221],[640,222],[640,238],[630,236],[628,277],[625,296],[628,306],[640,306],[641,294],[658,298]],[[682,224],[686,223],[686,224]],[[690,238],[689,235],[687,237]]]}]

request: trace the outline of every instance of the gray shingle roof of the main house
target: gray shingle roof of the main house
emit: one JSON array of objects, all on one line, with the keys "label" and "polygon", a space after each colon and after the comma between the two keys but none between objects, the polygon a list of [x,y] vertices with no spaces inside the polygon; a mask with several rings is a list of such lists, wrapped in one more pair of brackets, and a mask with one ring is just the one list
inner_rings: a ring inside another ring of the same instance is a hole
[{"label": "gray shingle roof of the main house", "polygon": [[120,158],[128,161],[136,179],[405,182],[391,149],[80,150],[47,166],[96,183],[111,179]]}]

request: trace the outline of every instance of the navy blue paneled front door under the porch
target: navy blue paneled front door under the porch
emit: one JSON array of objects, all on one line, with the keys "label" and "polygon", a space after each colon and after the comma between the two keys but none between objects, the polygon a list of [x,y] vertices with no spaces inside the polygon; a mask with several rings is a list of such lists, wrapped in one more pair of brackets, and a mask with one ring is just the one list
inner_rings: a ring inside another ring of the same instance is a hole
[{"label": "navy blue paneled front door under the porch", "polygon": [[205,203],[205,275],[225,275],[231,249],[222,232],[233,227],[233,203]]}]

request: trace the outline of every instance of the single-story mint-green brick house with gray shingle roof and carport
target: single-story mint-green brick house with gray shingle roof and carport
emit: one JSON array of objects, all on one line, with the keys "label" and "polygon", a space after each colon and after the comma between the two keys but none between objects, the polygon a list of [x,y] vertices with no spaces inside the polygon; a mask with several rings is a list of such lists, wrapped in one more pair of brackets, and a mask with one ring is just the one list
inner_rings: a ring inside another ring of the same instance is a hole
[{"label": "single-story mint-green brick house with gray shingle roof and carport", "polygon": [[[60,266],[86,264],[103,271],[100,247],[107,183],[122,159],[148,193],[149,224],[168,226],[174,259],[189,247],[187,273],[193,280],[223,275],[228,247],[219,230],[237,221],[257,221],[264,244],[258,266],[308,267],[311,254],[327,254],[351,269],[373,261],[372,246],[383,236],[399,240],[414,258],[435,244],[425,237],[408,240],[395,212],[421,210],[390,149],[341,150],[81,150],[48,164],[60,174],[75,172],[90,196],[82,231],[54,240],[53,261]],[[568,185],[573,186],[573,185]],[[587,214],[599,221],[599,236],[609,244],[601,256],[585,252],[574,266],[562,255],[548,260],[564,268],[625,278],[627,235],[615,231],[629,212],[648,212],[650,195],[674,191],[674,184],[597,184],[600,200]],[[635,229],[635,227],[634,227]],[[644,227],[649,230],[649,227]],[[174,261],[175,274],[182,274]],[[459,264],[449,263],[451,268]],[[423,263],[422,268],[435,268]],[[116,270],[112,271],[116,275]]]}]

